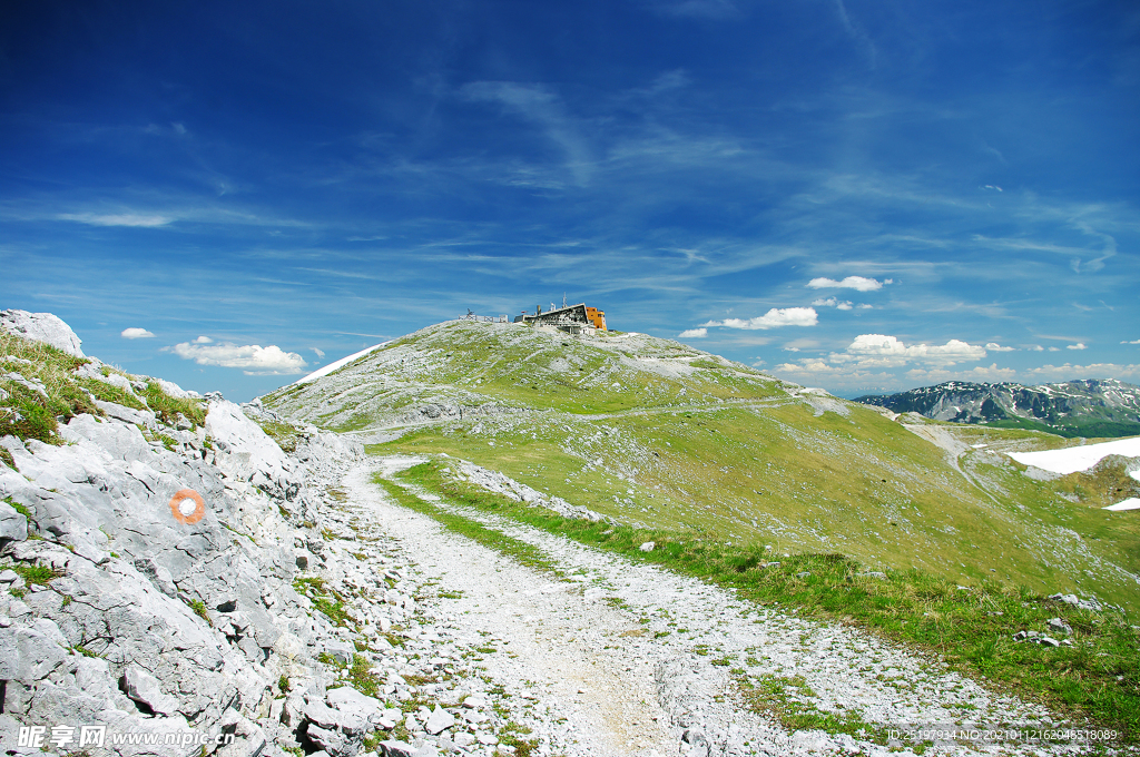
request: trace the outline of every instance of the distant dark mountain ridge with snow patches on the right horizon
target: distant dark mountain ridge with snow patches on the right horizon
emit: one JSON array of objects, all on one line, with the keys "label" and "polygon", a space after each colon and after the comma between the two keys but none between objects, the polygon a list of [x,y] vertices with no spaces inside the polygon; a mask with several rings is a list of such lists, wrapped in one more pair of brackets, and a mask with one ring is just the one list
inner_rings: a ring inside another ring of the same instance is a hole
[{"label": "distant dark mountain ridge with snow patches on the right horizon", "polygon": [[1140,386],[1116,378],[1036,386],[947,381],[855,401],[935,421],[1036,429],[1062,437],[1140,434]]}]

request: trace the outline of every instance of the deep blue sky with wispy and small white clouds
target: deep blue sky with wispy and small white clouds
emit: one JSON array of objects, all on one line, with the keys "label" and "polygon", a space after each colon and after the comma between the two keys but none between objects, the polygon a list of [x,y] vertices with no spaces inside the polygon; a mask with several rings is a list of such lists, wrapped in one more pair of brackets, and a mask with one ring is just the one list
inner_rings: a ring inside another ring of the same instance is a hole
[{"label": "deep blue sky with wispy and small white clouds", "polygon": [[0,188],[0,308],[238,400],[563,293],[847,397],[1140,383],[1133,2],[9,3]]}]

